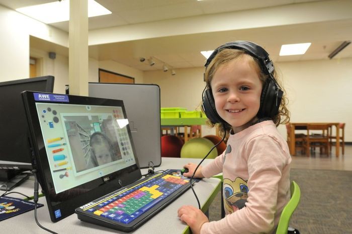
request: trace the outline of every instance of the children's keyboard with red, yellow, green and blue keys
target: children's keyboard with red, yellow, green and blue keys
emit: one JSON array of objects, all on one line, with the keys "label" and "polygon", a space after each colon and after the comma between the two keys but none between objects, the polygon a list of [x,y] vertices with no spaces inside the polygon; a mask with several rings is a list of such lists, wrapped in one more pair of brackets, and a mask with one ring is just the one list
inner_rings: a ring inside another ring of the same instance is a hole
[{"label": "children's keyboard with red, yellow, green and blue keys", "polygon": [[180,176],[156,173],[75,210],[80,220],[132,231],[190,188]]}]

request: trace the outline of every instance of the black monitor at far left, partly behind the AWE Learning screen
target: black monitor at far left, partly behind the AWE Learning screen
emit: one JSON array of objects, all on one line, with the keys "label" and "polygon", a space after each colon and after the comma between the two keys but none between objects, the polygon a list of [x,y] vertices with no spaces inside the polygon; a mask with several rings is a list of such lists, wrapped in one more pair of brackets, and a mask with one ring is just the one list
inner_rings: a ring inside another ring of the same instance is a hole
[{"label": "black monitor at far left, partly behind the AWE Learning screen", "polygon": [[21,92],[53,92],[54,76],[41,76],[0,83],[0,190],[11,190],[31,170],[28,123]]}]

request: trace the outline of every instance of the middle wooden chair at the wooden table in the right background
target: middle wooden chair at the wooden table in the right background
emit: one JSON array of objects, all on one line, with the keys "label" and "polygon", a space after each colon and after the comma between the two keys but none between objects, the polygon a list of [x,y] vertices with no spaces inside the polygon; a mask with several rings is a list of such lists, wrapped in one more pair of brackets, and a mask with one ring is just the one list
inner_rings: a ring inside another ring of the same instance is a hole
[{"label": "middle wooden chair at the wooden table in the right background", "polygon": [[[312,130],[314,132],[312,132]],[[328,124],[308,124],[307,125],[307,136],[306,141],[306,152],[307,156],[310,156],[310,149],[315,151],[316,147],[322,149],[329,155],[330,151],[330,136],[329,136],[329,125]]]}]

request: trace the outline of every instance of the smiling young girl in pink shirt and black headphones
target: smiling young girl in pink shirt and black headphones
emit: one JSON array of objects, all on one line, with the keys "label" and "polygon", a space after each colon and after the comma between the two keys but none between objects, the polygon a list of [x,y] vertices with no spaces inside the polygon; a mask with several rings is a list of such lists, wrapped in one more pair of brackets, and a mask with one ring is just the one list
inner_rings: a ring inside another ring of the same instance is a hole
[{"label": "smiling young girl in pink shirt and black headphones", "polygon": [[[190,205],[182,206],[178,216],[194,234],[275,233],[290,199],[291,157],[276,128],[288,122],[289,111],[273,63],[260,46],[235,41],[217,48],[206,67],[203,108],[229,138],[226,150],[199,167],[195,177],[223,173],[226,216],[209,222]],[[184,176],[191,177],[196,166],[185,165]]]}]

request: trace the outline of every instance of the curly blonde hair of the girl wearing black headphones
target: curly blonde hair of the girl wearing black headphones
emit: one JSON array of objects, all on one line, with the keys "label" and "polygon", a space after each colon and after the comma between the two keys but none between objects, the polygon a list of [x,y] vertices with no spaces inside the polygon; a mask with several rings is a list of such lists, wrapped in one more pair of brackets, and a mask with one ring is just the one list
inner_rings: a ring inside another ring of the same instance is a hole
[{"label": "curly blonde hair of the girl wearing black headphones", "polygon": [[[219,69],[221,65],[227,64],[230,61],[237,60],[237,59],[248,60],[248,62],[250,63],[250,66],[253,67],[253,69],[255,69],[255,71],[257,72],[262,85],[266,82],[267,79],[270,79],[270,76],[262,71],[260,67],[261,66],[260,62],[256,58],[245,53],[243,50],[223,49],[216,54],[216,56],[212,59],[212,61],[209,63],[209,65],[205,70],[204,77],[205,77],[205,82],[207,84],[207,87],[211,89],[210,83],[213,79],[215,72]],[[278,85],[281,87],[282,91],[284,92],[282,96],[281,104],[279,107],[279,113],[272,118],[276,126],[278,126],[279,124],[285,124],[290,121],[290,112],[287,108],[288,99],[286,97],[286,92],[282,88],[282,86],[280,85],[280,82],[277,79],[277,72],[275,69],[272,74],[275,80],[277,81]],[[223,135],[224,133],[229,133],[231,129],[231,125],[229,125],[226,122],[216,123],[216,124],[219,125],[219,131],[221,135]],[[212,123],[210,120],[207,121],[207,125],[209,125],[210,127],[214,127],[216,124]],[[224,129],[226,129],[226,132],[224,131]]]}]

